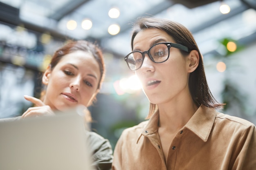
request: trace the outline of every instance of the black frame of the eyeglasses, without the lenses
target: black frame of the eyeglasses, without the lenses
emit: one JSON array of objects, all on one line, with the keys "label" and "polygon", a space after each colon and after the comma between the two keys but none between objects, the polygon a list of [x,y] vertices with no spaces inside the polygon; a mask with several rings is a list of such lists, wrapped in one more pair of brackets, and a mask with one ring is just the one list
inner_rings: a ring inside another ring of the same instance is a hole
[{"label": "black frame of the eyeglasses, without the lenses", "polygon": [[[151,50],[154,46],[159,45],[159,44],[165,44],[165,45],[167,46],[167,48],[168,48],[168,57],[166,58],[166,60],[164,60],[164,61],[162,61],[162,62],[155,62],[154,59],[153,59],[153,57],[150,55],[150,50]],[[168,60],[168,58],[169,58],[169,56],[170,56],[170,48],[171,48],[171,47],[174,47],[174,48],[176,48],[176,49],[180,49],[180,50],[186,51],[186,52],[190,52],[190,51],[191,51],[191,50],[189,50],[188,47],[186,47],[186,46],[184,46],[184,45],[182,45],[182,44],[176,44],[176,43],[172,43],[172,42],[160,42],[160,43],[157,43],[157,44],[154,44],[153,46],[151,46],[147,51],[144,51],[144,52],[141,52],[141,51],[132,51],[132,52],[130,52],[128,55],[126,55],[126,56],[124,57],[124,61],[126,62],[128,68],[129,68],[131,71],[136,71],[136,70],[138,70],[139,68],[141,68],[141,66],[142,66],[142,64],[143,64],[143,62],[144,62],[145,54],[148,55],[148,57],[150,58],[150,60],[151,60],[152,62],[154,62],[154,63],[163,63],[163,62],[166,62],[166,61]],[[142,62],[141,62],[141,65],[139,66],[139,68],[137,68],[137,69],[135,69],[135,70],[132,70],[132,69],[130,68],[129,64],[128,64],[128,60],[127,60],[127,59],[128,59],[128,56],[129,56],[130,54],[135,53],[135,52],[141,53],[141,55],[142,55]]]}]

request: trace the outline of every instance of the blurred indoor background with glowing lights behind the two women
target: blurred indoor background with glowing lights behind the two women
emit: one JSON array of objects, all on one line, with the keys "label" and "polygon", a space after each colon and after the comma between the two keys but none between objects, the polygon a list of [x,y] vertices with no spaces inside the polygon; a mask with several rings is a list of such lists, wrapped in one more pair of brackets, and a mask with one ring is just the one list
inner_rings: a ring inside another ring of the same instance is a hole
[{"label": "blurred indoor background with glowing lights behind the two women", "polygon": [[255,0],[0,0],[0,118],[39,97],[40,75],[68,40],[97,42],[106,79],[89,110],[92,130],[115,148],[122,130],[144,121],[149,102],[124,56],[140,16],[175,20],[194,35],[211,92],[224,113],[256,124]]}]

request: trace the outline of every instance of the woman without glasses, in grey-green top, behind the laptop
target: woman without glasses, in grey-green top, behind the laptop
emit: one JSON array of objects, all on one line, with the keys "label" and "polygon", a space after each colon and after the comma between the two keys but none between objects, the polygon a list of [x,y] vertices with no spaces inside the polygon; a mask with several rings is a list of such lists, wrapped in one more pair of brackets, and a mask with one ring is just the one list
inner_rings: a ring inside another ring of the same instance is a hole
[{"label": "woman without glasses, in grey-green top, behind the laptop", "polygon": [[[71,41],[58,49],[42,77],[45,91],[40,99],[25,96],[35,107],[28,108],[20,117],[54,115],[78,105],[88,107],[96,99],[105,75],[103,54],[97,44],[88,41]],[[85,115],[90,120],[90,115]],[[95,132],[85,135],[92,152],[93,167],[110,170],[112,148],[107,139]]]}]

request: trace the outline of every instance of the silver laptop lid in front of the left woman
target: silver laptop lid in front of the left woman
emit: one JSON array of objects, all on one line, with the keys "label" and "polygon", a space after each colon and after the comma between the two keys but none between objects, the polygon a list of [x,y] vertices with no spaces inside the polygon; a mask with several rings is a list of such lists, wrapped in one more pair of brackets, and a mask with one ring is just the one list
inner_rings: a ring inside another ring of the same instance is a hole
[{"label": "silver laptop lid in front of the left woman", "polygon": [[0,122],[0,170],[91,170],[80,114]]}]

